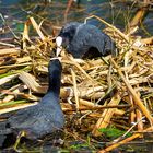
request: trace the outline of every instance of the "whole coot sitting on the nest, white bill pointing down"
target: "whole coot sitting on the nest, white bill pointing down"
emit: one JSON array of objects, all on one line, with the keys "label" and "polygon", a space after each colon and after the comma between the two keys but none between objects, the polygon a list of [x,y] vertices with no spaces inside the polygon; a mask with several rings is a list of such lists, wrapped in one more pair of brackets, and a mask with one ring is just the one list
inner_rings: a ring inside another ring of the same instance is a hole
[{"label": "whole coot sitting on the nest, white bill pointing down", "polygon": [[74,58],[94,58],[116,54],[110,37],[91,24],[71,22],[60,31],[57,39],[58,52],[60,45],[66,47]]}]

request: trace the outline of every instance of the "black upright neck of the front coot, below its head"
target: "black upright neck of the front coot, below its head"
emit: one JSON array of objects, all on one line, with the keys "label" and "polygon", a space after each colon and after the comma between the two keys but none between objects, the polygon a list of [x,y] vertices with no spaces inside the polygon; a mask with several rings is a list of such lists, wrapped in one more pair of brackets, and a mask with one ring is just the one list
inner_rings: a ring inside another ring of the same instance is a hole
[{"label": "black upright neck of the front coot, below its head", "polygon": [[49,73],[48,92],[52,92],[56,95],[60,94],[60,80],[61,75],[59,71],[52,71]]}]

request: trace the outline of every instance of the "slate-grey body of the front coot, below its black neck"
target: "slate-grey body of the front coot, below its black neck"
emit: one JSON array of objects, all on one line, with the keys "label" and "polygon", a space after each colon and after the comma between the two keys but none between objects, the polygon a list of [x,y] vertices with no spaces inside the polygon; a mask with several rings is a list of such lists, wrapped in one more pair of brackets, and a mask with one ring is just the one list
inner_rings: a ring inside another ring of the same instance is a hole
[{"label": "slate-grey body of the front coot, below its black neck", "polygon": [[[50,99],[51,103],[47,103]],[[63,114],[57,98],[47,94],[39,104],[17,111],[9,119],[9,123],[12,129],[25,130],[28,138],[35,139],[51,133],[56,128],[62,128],[61,119]]]}]

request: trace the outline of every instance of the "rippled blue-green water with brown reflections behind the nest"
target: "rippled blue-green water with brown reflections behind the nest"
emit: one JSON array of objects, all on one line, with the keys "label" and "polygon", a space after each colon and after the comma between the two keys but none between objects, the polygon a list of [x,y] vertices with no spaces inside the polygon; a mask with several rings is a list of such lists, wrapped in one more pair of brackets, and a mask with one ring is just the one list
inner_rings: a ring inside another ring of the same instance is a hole
[{"label": "rippled blue-green water with brown reflections behind the nest", "polygon": [[[38,22],[44,20],[45,30],[50,33],[50,25],[64,24],[64,11],[68,0],[0,0],[0,13],[5,19],[7,24],[14,30],[16,34],[23,31],[23,23],[30,15],[33,15]],[[80,0],[79,5],[72,4],[67,16],[69,21],[83,22],[86,16],[95,14],[107,22],[125,30],[129,20],[133,16],[137,5],[126,2],[110,2],[108,0]],[[87,21],[98,27],[104,28],[104,24],[92,19]],[[139,33],[144,36],[153,34],[153,13],[149,13],[144,20]],[[4,26],[0,19],[0,27]]]}]

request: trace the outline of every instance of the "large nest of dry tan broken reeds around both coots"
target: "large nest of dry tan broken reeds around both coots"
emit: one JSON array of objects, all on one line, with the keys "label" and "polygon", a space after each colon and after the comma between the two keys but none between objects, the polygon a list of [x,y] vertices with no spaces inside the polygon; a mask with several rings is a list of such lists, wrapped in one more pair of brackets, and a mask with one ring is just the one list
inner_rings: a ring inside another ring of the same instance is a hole
[{"label": "large nest of dry tan broken reeds around both coots", "polygon": [[[110,126],[127,131],[118,139],[122,143],[105,149],[110,151],[153,130],[153,37],[128,35],[101,21],[116,43],[118,55],[76,60],[62,50],[60,97],[68,119],[66,131],[73,133],[71,137],[83,138],[83,132],[99,137],[98,129]],[[30,24],[38,37],[30,37]],[[56,44],[55,37],[44,35],[39,27],[30,17],[19,45],[4,42],[0,48],[1,115],[36,105],[39,94],[47,90],[47,66]],[[126,138],[129,132],[132,136]]]}]

